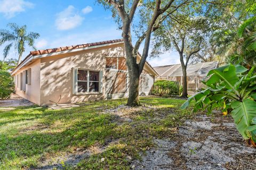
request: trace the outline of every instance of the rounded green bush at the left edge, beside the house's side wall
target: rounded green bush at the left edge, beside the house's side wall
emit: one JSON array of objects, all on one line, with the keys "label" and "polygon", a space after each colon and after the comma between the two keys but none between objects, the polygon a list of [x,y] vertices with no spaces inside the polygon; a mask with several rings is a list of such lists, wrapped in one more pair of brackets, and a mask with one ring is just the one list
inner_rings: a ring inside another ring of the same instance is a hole
[{"label": "rounded green bush at the left edge, beside the house's side wall", "polygon": [[0,71],[0,99],[9,98],[14,92],[14,82],[11,74],[7,71]]}]

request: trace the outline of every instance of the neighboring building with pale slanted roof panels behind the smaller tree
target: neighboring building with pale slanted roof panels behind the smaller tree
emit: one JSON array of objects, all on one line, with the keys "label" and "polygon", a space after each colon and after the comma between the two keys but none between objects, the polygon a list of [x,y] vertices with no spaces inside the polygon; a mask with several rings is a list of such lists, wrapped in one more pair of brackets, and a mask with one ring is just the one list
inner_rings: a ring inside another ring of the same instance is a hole
[{"label": "neighboring building with pale slanted roof panels behind the smaller tree", "polygon": [[[206,62],[197,64],[188,64],[187,66],[187,83],[188,90],[196,91],[204,87],[202,80],[206,74],[218,67],[218,62]],[[159,76],[156,80],[178,81],[182,85],[182,67],[181,64],[164,65],[154,67]]]}]

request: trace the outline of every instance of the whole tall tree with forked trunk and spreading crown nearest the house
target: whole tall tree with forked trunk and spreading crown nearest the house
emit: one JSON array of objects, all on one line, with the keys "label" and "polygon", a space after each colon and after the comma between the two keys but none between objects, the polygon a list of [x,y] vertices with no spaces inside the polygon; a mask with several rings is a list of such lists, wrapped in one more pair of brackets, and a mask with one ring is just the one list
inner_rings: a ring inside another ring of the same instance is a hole
[{"label": "whole tall tree with forked trunk and spreading crown nearest the house", "polygon": [[[105,8],[113,12],[113,16],[122,29],[124,50],[128,66],[130,87],[127,105],[138,106],[139,103],[139,78],[148,57],[151,33],[157,30],[167,15],[177,11],[190,0],[97,0]],[[133,40],[132,28],[137,28]],[[133,42],[135,42],[133,46]],[[138,50],[143,43],[141,60],[137,63]]]}]

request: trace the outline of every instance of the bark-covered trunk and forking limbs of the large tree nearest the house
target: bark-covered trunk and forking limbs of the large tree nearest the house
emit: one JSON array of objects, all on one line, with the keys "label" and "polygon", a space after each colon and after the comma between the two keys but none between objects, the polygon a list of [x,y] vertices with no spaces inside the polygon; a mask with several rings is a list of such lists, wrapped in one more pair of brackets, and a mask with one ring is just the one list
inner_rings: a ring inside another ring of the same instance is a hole
[{"label": "bark-covered trunk and forking limbs of the large tree nearest the house", "polygon": [[[127,101],[127,105],[129,106],[138,106],[139,103],[139,79],[140,74],[143,71],[143,67],[145,65],[146,59],[148,57],[149,45],[151,32],[155,31],[159,28],[160,22],[156,24],[158,16],[163,14],[170,6],[172,5],[174,0],[169,0],[165,6],[161,8],[161,0],[155,1],[155,8],[153,11],[153,16],[151,17],[148,28],[146,32],[138,39],[135,44],[135,48],[132,45],[132,36],[131,36],[131,23],[134,18],[135,11],[137,10],[139,0],[134,0],[130,13],[127,13],[125,10],[125,1],[124,0],[107,0],[108,3],[114,5],[116,8],[118,15],[122,20],[122,37],[124,39],[124,50],[126,55],[126,63],[128,66],[129,77],[130,77],[130,87],[129,87],[129,98]],[[165,17],[166,18],[166,17]],[[163,21],[161,21],[163,22]],[[155,25],[156,24],[156,25]],[[155,26],[155,27],[154,27]],[[144,48],[141,56],[140,62],[137,64],[137,52],[140,47],[142,41],[145,40]]]}]

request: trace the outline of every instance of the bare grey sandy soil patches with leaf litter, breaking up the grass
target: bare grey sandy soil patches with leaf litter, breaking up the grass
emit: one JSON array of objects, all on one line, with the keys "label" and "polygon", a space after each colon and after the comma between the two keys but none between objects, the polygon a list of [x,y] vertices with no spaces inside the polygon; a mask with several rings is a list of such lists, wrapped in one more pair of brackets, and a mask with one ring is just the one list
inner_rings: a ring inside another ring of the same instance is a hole
[{"label": "bare grey sandy soil patches with leaf litter, breaking up the grass", "polygon": [[[105,109],[105,112],[116,116],[115,122],[122,124],[133,121],[132,113],[139,109],[156,108],[130,108],[120,105]],[[157,112],[155,114],[159,120],[165,116]],[[146,154],[141,154],[141,161],[131,160],[131,169],[256,169],[256,149],[246,146],[232,118],[224,117],[221,113],[214,114],[214,117],[195,116],[193,120],[187,120],[177,127],[177,132],[171,138],[154,137],[154,142],[156,147],[149,148]],[[107,146],[98,146],[97,150],[104,151],[110,143]],[[89,148],[55,158],[53,162],[44,160],[38,169],[61,169],[60,162],[75,166],[92,153],[93,148]]]}]

